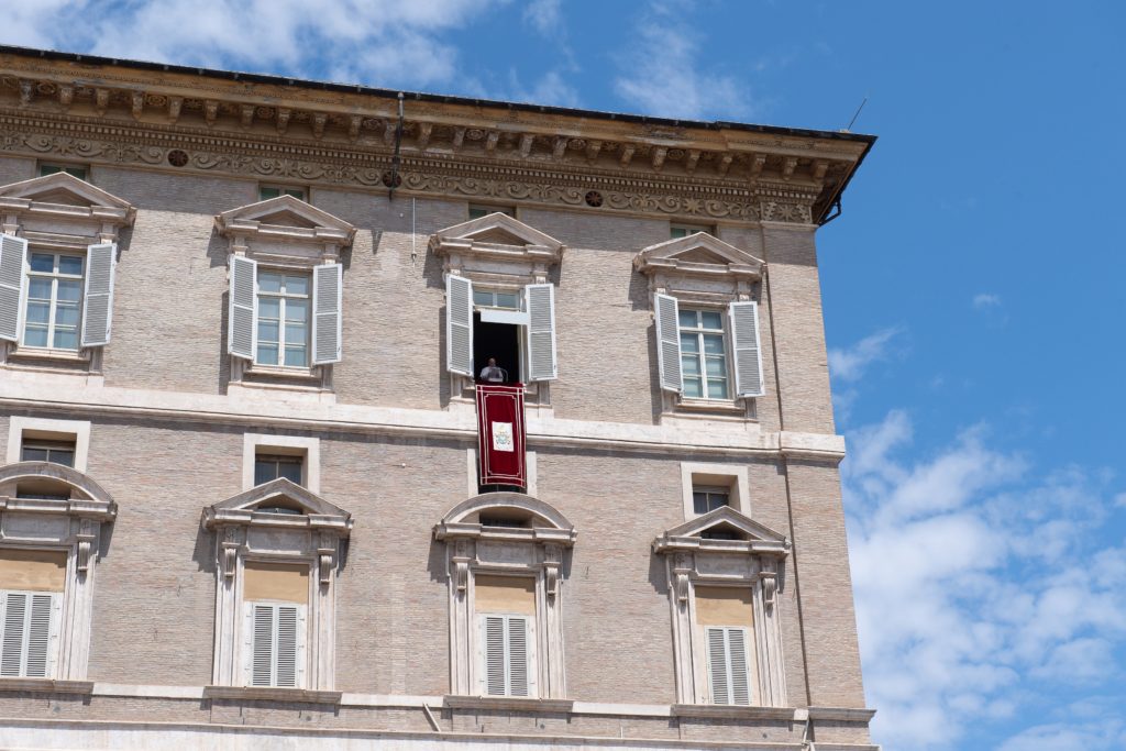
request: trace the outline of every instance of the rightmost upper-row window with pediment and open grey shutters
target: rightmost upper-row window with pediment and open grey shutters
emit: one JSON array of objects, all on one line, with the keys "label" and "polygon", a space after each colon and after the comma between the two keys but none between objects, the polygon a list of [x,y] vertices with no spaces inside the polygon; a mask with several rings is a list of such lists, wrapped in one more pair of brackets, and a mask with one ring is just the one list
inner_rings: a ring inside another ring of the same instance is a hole
[{"label": "rightmost upper-row window with pediment and open grey shutters", "polygon": [[634,258],[650,277],[664,414],[754,415],[765,393],[758,297],[763,261],[706,232]]}]

